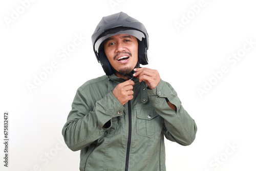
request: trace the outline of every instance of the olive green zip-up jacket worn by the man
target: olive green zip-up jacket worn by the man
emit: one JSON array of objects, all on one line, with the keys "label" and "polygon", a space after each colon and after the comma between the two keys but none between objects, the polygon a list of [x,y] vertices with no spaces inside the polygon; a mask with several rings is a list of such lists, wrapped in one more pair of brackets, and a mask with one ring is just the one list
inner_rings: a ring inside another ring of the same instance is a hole
[{"label": "olive green zip-up jacket worn by the man", "polygon": [[123,106],[112,93],[121,82],[114,74],[104,75],[77,90],[62,129],[65,142],[72,151],[81,151],[83,171],[165,170],[164,136],[189,145],[196,136],[196,123],[169,83],[161,80],[148,90],[136,78],[134,98]]}]

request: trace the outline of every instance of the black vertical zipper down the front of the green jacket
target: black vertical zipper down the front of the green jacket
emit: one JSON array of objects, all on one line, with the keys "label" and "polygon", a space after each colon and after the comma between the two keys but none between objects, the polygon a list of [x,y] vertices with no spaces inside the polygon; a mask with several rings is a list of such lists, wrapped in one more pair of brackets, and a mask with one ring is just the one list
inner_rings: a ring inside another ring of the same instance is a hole
[{"label": "black vertical zipper down the front of the green jacket", "polygon": [[128,141],[127,141],[127,149],[126,149],[126,160],[125,160],[125,171],[128,171],[129,167],[129,155],[130,155],[130,147],[131,147],[131,139],[132,139],[132,107],[131,100],[128,101]]}]

